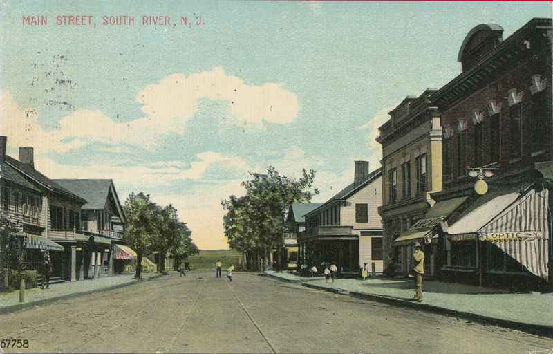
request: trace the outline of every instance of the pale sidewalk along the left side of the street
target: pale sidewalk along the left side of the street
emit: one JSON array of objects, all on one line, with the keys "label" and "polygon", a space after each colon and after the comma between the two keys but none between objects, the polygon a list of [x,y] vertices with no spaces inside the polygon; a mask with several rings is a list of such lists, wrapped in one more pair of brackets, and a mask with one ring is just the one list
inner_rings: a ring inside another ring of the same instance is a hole
[{"label": "pale sidewalk along the left side of the street", "polygon": [[[142,279],[148,280],[158,276],[158,274],[142,274]],[[48,289],[27,289],[25,290],[24,303],[19,303],[19,290],[0,292],[0,314],[129,286],[137,282],[133,278],[134,274],[125,274],[91,280],[66,281],[65,283],[52,284]]]}]

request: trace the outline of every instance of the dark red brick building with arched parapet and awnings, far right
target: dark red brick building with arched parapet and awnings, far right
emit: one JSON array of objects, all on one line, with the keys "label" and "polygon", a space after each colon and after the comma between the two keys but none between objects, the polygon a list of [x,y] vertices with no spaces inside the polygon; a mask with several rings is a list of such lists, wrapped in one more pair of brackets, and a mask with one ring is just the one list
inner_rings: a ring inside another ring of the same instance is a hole
[{"label": "dark red brick building with arched parapet and awnings, far right", "polygon": [[462,73],[431,95],[443,134],[443,190],[431,197],[465,198],[440,225],[444,280],[551,282],[552,33],[552,19],[505,40],[500,26],[474,27],[459,50]]}]

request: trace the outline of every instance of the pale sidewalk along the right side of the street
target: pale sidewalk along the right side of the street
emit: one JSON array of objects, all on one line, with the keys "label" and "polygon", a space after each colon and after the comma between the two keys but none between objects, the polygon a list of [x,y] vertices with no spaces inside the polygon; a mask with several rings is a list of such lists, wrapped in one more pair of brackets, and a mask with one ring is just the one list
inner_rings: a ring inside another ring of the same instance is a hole
[{"label": "pale sidewalk along the right side of the street", "polygon": [[303,278],[294,274],[265,272],[281,281],[301,283],[309,288],[364,297],[395,306],[427,310],[442,315],[502,326],[553,337],[553,294],[510,293],[503,290],[465,286],[440,281],[423,281],[424,301],[411,301],[415,295],[411,279],[336,279]]}]

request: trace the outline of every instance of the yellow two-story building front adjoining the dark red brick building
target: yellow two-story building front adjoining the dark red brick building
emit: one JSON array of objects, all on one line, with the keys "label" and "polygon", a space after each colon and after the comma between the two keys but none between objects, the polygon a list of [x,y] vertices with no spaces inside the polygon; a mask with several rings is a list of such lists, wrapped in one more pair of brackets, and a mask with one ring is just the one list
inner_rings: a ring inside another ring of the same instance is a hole
[{"label": "yellow two-story building front adjoining the dark red brick building", "polygon": [[[427,89],[419,97],[406,97],[379,127],[382,145],[382,206],[384,269],[388,274],[407,274],[416,241],[424,234],[406,234],[424,218],[434,201],[432,192],[442,189],[442,129],[440,114]],[[414,235],[414,236],[413,236]],[[428,244],[424,252],[434,254]],[[433,273],[433,257],[427,274]]]}]

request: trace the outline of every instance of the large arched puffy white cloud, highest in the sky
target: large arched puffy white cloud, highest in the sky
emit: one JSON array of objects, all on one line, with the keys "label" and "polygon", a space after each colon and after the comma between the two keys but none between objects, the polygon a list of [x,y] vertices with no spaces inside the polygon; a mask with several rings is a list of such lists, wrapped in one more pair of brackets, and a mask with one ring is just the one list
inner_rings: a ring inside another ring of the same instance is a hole
[{"label": "large arched puffy white cloud, highest in the sky", "polygon": [[154,122],[161,121],[163,129],[182,129],[198,111],[201,98],[229,101],[232,113],[239,120],[252,123],[261,123],[262,120],[290,123],[298,111],[297,96],[283,90],[279,84],[250,86],[238,77],[226,75],[223,68],[194,73],[189,77],[178,73],[170,75],[136,96],[136,100],[144,104],[142,111]]}]

